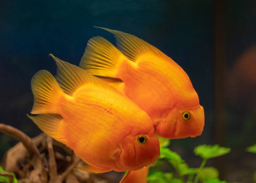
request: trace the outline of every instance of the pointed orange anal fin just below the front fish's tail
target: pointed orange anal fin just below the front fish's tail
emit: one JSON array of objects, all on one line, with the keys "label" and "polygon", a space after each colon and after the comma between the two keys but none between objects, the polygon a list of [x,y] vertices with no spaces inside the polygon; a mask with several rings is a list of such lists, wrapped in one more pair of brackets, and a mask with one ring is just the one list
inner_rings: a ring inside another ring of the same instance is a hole
[{"label": "pointed orange anal fin just below the front fish's tail", "polygon": [[42,114],[37,116],[28,115],[28,117],[47,135],[67,145],[66,139],[62,133],[61,124],[63,119],[60,115]]}]

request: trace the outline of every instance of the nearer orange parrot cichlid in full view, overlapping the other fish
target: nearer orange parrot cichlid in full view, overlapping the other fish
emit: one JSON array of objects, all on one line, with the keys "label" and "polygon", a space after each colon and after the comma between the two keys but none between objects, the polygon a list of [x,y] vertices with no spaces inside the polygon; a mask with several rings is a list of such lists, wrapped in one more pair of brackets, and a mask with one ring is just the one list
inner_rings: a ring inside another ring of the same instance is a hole
[{"label": "nearer orange parrot cichlid in full view, overlapping the other fish", "polygon": [[51,56],[58,82],[46,70],[35,74],[31,113],[39,115],[28,117],[88,164],[78,169],[101,173],[155,163],[159,141],[147,113],[106,82]]}]

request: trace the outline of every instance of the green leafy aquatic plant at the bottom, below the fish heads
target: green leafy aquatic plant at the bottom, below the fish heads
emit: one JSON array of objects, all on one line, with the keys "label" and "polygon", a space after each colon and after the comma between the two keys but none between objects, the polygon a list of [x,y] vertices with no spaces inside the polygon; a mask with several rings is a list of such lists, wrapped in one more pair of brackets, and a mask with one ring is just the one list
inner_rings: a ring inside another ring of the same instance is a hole
[{"label": "green leafy aquatic plant at the bottom, below the fish heads", "polygon": [[[195,155],[199,155],[203,162],[199,168],[191,168],[178,153],[168,148],[169,145],[170,140],[166,141],[160,148],[161,156],[149,169],[148,183],[193,183],[193,179],[194,183],[199,180],[203,183],[226,183],[226,181],[219,179],[219,171],[216,168],[204,166],[208,159],[229,153],[230,148],[219,145],[195,147]],[[164,171],[164,165],[168,167],[169,172]]]}]

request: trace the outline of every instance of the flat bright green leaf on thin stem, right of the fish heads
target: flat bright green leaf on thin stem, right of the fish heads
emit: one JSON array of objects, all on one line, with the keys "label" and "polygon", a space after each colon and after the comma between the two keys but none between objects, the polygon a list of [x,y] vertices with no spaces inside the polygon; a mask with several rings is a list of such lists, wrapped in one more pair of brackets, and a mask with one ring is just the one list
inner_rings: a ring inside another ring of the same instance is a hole
[{"label": "flat bright green leaf on thin stem, right of the fish heads", "polygon": [[225,155],[230,152],[228,147],[220,147],[218,144],[211,145],[199,145],[195,147],[195,155],[199,155],[203,159],[210,159],[218,156]]}]

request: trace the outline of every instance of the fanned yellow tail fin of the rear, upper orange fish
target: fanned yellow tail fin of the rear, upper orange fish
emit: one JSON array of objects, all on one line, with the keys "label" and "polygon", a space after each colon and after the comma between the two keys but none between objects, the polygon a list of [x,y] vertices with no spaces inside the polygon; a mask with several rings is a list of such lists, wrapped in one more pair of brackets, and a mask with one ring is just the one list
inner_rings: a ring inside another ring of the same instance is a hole
[{"label": "fanned yellow tail fin of the rear, upper orange fish", "polygon": [[120,64],[127,59],[113,44],[103,37],[91,38],[80,61],[80,68],[92,75],[116,77]]}]

